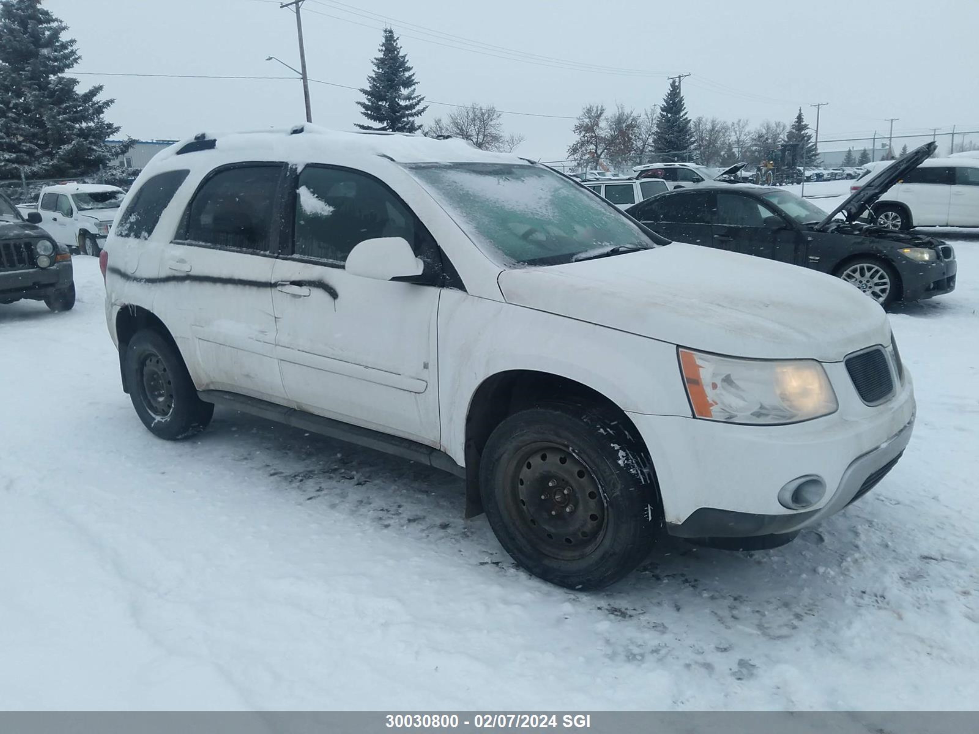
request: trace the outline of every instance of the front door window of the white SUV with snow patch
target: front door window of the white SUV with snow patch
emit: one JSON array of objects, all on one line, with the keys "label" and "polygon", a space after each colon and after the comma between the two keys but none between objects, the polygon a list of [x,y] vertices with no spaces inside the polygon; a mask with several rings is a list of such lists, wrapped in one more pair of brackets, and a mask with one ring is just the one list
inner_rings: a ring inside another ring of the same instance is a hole
[{"label": "front door window of the white SUV with snow patch", "polygon": [[306,166],[296,197],[294,253],[337,264],[375,237],[415,244],[414,214],[376,179],[341,168]]}]

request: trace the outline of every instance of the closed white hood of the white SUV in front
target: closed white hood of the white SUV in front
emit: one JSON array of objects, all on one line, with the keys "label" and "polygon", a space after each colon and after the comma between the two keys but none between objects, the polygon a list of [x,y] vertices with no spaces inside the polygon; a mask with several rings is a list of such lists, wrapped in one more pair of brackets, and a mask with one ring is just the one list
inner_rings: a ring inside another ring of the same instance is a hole
[{"label": "closed white hood of the white SUV in front", "polygon": [[675,243],[566,265],[504,270],[508,303],[742,357],[839,361],[887,344],[887,315],[838,278]]}]

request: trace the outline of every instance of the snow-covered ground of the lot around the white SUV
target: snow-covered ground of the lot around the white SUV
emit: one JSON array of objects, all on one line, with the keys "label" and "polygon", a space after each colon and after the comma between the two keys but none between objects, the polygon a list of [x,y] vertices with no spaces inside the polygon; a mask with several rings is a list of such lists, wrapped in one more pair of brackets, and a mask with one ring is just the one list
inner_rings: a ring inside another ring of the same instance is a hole
[{"label": "snow-covered ground of the lot around the white SUV", "polygon": [[783,548],[676,542],[588,594],[436,471],[228,412],[150,436],[76,257],[70,313],[0,306],[0,709],[974,708],[979,235],[954,244],[956,293],[892,319],[895,472]]}]

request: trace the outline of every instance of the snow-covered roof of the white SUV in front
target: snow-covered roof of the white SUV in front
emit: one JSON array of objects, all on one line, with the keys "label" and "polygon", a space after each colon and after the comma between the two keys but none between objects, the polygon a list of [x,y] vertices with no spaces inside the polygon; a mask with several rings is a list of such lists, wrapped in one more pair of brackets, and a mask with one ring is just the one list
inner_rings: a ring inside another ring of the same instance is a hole
[{"label": "snow-covered roof of the white SUV in front", "polygon": [[[201,136],[197,136],[200,138]],[[205,133],[214,139],[220,157],[248,156],[251,160],[275,159],[286,162],[329,161],[336,154],[383,156],[400,163],[423,162],[521,162],[517,156],[481,151],[455,138],[439,140],[422,135],[384,132],[341,132],[317,125],[248,132]],[[193,140],[182,140],[158,154],[155,162],[165,161]],[[256,154],[261,159],[256,159]]]}]

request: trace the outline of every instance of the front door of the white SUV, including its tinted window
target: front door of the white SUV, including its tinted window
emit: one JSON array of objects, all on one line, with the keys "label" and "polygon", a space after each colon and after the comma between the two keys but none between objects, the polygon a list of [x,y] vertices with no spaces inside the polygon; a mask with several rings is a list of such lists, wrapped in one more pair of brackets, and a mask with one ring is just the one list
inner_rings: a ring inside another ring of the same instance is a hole
[{"label": "front door of the white SUV, including its tinted window", "polygon": [[291,248],[272,272],[286,394],[303,410],[438,446],[441,289],[344,269],[364,240],[403,237],[422,257],[435,242],[372,176],[306,165],[292,180]]}]

